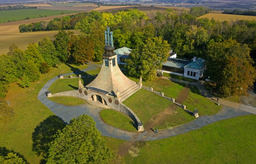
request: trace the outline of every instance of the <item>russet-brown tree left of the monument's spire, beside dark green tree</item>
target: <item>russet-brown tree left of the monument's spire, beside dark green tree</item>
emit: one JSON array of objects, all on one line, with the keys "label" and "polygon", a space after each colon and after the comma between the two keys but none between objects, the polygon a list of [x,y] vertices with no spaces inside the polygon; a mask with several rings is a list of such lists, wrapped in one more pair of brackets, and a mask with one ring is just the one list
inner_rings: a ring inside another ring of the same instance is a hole
[{"label": "russet-brown tree left of the monument's spire, beside dark green tree", "polygon": [[94,43],[90,38],[80,36],[74,43],[74,50],[72,57],[78,63],[84,64],[86,61],[94,59]]}]

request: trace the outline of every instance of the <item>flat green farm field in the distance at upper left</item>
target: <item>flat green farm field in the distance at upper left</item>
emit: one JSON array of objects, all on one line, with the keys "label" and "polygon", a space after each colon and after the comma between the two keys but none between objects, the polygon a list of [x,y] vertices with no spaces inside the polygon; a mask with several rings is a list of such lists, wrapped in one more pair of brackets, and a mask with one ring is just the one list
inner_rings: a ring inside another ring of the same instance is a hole
[{"label": "flat green farm field in the distance at upper left", "polygon": [[21,10],[6,10],[0,11],[0,23],[2,22],[11,22],[15,20],[24,20],[27,17],[40,18],[45,16],[54,16],[61,14],[70,14],[79,11],[69,11],[69,10],[44,10],[44,9],[21,9]]}]

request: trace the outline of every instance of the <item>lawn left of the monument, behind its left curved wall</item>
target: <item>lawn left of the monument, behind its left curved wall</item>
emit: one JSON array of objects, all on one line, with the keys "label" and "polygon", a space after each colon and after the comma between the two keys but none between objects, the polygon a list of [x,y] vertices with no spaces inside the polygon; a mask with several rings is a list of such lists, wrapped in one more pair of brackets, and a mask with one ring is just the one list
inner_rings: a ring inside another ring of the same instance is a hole
[{"label": "lawn left of the monument, behind its left curved wall", "polygon": [[[87,65],[85,65],[87,66]],[[81,69],[80,69],[81,70]],[[90,71],[86,71],[83,73],[78,73],[81,75],[96,75],[100,72],[100,69],[93,69]],[[74,76],[78,76],[73,74]],[[69,76],[67,76],[69,77]],[[86,78],[81,78],[81,82],[83,85],[87,85],[90,82],[92,82],[95,79],[95,77],[86,77]],[[58,92],[63,92],[63,91],[71,91],[71,90],[77,90],[78,89],[78,79],[58,79],[52,83],[52,85],[49,87],[49,90],[52,91],[52,94],[58,93]]]}]

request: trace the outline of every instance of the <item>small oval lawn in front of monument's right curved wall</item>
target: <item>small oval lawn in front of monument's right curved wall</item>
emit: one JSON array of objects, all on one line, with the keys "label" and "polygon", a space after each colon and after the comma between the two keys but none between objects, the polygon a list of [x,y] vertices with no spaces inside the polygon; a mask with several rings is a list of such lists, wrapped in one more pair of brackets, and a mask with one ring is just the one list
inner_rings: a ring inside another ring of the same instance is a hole
[{"label": "small oval lawn in front of monument's right curved wall", "polygon": [[100,111],[100,118],[111,126],[130,132],[137,132],[136,127],[133,126],[134,121],[119,111],[113,109],[102,110]]}]

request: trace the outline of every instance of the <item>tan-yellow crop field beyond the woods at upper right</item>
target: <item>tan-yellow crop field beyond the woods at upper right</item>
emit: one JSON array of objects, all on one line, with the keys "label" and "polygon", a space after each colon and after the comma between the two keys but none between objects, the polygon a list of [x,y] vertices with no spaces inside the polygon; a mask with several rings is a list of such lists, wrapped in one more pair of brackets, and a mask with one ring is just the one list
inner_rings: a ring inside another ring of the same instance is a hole
[{"label": "tan-yellow crop field beyond the woods at upper right", "polygon": [[256,16],[242,16],[242,15],[232,15],[232,14],[221,14],[221,13],[209,13],[199,18],[208,18],[208,19],[215,19],[218,21],[236,21],[236,20],[256,20]]}]

